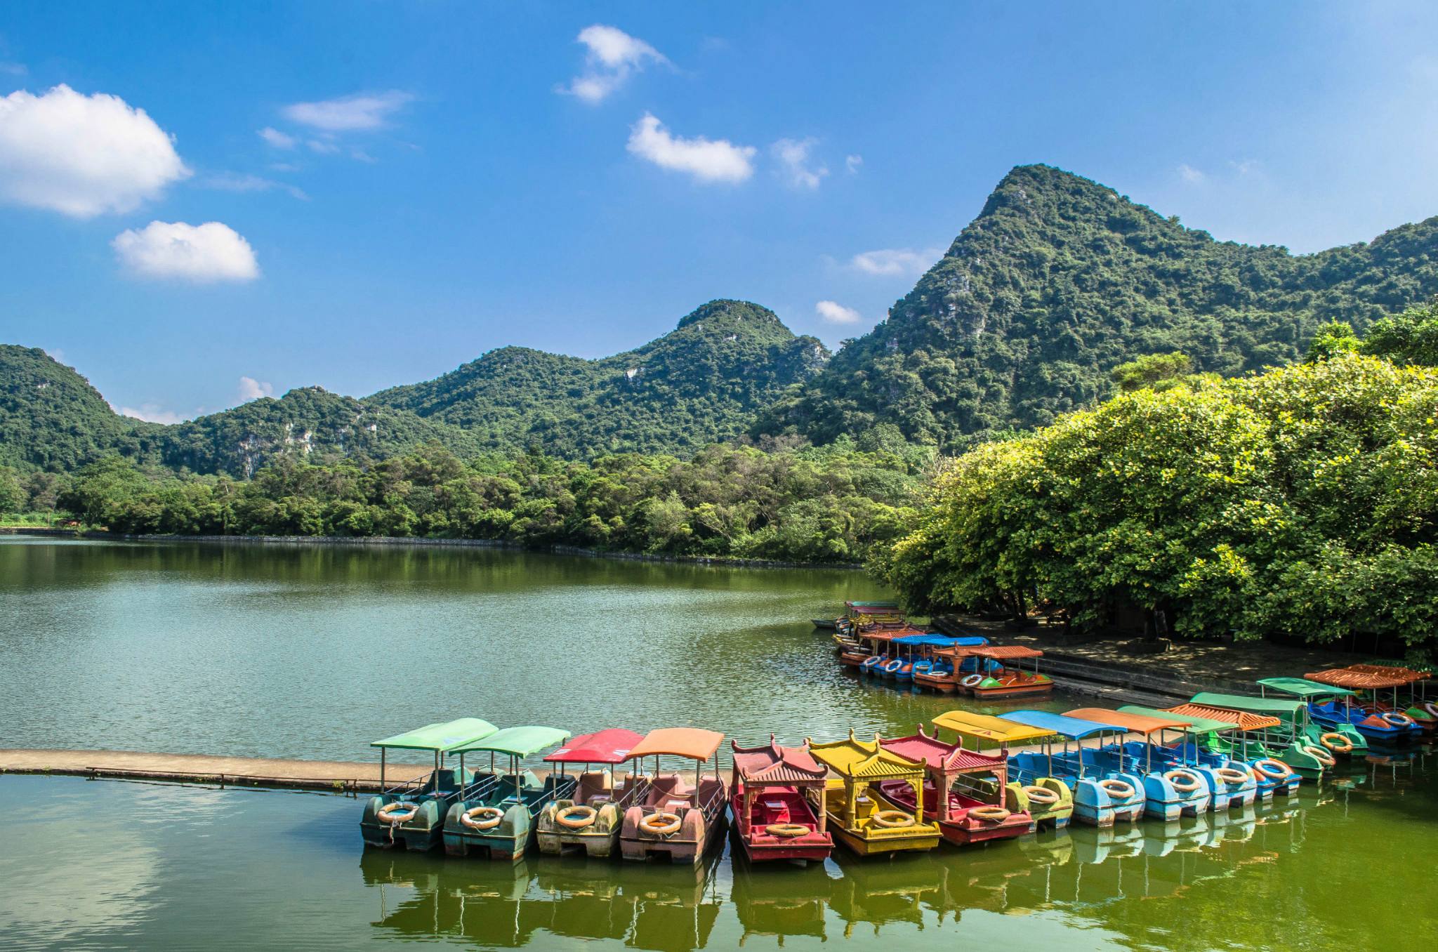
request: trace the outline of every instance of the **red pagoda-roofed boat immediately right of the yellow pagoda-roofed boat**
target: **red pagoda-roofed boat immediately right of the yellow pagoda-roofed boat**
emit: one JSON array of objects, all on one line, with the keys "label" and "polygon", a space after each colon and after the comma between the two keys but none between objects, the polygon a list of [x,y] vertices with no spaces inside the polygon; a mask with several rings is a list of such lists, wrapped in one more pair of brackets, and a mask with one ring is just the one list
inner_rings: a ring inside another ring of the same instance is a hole
[{"label": "red pagoda-roofed boat immediately right of the yellow pagoda-roofed boat", "polygon": [[[923,815],[939,824],[949,843],[968,846],[988,840],[1011,840],[1034,831],[1034,817],[1027,810],[1004,805],[1008,789],[1007,752],[965,751],[962,736],[956,743],[930,738],[919,725],[906,738],[881,738],[879,745],[890,754],[923,764]],[[916,810],[916,791],[902,779],[880,781],[880,800],[897,810]]]}]

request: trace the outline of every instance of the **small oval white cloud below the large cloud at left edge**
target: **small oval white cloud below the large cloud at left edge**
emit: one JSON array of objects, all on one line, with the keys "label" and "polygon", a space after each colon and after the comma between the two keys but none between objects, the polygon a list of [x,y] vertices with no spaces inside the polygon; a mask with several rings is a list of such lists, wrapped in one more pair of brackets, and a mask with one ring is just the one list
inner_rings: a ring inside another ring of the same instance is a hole
[{"label": "small oval white cloud below the large cloud at left edge", "polygon": [[111,246],[119,263],[142,278],[209,283],[253,280],[260,273],[250,243],[219,221],[151,221],[121,232]]}]

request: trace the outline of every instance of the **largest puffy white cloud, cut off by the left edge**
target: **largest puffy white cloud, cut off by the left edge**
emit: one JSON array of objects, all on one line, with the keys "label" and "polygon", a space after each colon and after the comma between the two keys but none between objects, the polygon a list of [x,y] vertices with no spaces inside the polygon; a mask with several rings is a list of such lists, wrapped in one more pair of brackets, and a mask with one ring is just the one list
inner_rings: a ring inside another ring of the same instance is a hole
[{"label": "largest puffy white cloud, cut off by the left edge", "polygon": [[0,196],[79,219],[131,211],[190,174],[171,137],[119,96],[59,85],[0,99]]}]

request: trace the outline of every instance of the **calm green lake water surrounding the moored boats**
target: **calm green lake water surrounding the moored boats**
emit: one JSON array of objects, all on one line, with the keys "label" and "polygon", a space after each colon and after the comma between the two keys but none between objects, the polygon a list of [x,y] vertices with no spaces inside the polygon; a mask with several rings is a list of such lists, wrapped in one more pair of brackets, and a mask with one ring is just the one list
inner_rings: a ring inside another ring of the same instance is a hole
[{"label": "calm green lake water surrounding the moored boats", "polygon": [[[395,729],[912,731],[805,618],[861,574],[486,549],[0,541],[0,746],[364,759]],[[1078,699],[1057,699],[1054,708]],[[1002,712],[1002,708],[989,708]],[[342,797],[0,777],[0,948],[1406,949],[1438,942],[1432,755],[1182,824],[700,870],[365,853]]]}]

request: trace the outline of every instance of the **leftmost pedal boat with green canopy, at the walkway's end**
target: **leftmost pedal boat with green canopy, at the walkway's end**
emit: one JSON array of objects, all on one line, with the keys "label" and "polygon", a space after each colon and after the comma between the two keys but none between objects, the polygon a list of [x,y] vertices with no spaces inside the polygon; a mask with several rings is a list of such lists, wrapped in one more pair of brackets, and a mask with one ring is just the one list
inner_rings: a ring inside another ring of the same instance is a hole
[{"label": "leftmost pedal boat with green canopy, at the walkway's end", "polygon": [[[407,850],[433,850],[440,844],[444,814],[459,800],[462,787],[472,779],[463,766],[444,766],[444,758],[464,746],[495,733],[498,728],[479,718],[460,718],[431,723],[406,733],[397,733],[370,746],[380,748],[380,795],[371,797],[360,817],[360,836],[365,846],[387,850],[401,846]],[[434,755],[434,769],[429,777],[385,787],[384,772],[390,751],[429,751]]]}]

